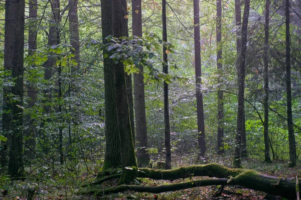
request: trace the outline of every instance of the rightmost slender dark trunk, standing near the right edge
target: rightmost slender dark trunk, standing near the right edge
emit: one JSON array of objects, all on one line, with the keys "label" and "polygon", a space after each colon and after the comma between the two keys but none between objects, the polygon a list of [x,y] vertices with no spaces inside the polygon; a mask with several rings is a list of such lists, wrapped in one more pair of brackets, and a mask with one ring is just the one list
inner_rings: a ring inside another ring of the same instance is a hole
[{"label": "rightmost slender dark trunk, standing near the right edge", "polygon": [[289,142],[289,167],[296,165],[296,145],[293,132],[291,111],[291,85],[290,85],[290,32],[289,32],[289,0],[285,0],[285,41],[286,41],[286,101],[287,101],[287,129]]}]

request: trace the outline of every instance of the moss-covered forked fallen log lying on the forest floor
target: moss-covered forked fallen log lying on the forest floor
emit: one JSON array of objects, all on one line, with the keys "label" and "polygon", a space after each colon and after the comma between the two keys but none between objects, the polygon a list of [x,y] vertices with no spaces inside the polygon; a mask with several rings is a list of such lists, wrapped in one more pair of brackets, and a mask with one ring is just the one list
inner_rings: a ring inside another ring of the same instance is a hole
[{"label": "moss-covered forked fallen log lying on the forest floor", "polygon": [[[187,189],[197,186],[225,184],[241,185],[246,188],[267,192],[269,194],[296,199],[296,190],[300,189],[296,188],[295,178],[279,178],[261,174],[251,169],[228,168],[218,163],[183,166],[170,170],[151,168],[139,168],[138,170],[138,177],[147,177],[160,180],[175,180],[192,176],[209,176],[216,178],[160,186],[119,185],[118,187],[101,190],[89,190],[83,193],[103,195],[126,190],[160,193],[164,191]],[[190,187],[187,187],[188,185]],[[298,186],[300,187],[300,185]]]}]

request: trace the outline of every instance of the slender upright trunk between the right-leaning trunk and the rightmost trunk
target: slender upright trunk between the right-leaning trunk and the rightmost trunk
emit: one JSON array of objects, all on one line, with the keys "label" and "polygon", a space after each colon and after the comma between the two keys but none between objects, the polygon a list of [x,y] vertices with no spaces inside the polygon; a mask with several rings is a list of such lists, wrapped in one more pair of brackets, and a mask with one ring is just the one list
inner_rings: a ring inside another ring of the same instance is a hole
[{"label": "slender upright trunk between the right-leaning trunk and the rightmost trunk", "polygon": [[265,2],[265,24],[264,24],[264,162],[271,163],[270,146],[268,142],[268,35],[269,35],[269,6],[270,0]]}]

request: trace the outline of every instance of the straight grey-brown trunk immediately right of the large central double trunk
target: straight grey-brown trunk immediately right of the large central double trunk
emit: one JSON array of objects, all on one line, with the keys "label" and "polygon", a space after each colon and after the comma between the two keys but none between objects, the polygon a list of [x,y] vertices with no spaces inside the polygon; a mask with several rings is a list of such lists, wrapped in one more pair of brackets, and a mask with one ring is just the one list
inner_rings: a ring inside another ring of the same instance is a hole
[{"label": "straight grey-brown trunk immediately right of the large central double trunk", "polygon": [[[142,14],[141,0],[132,0],[132,26],[133,35],[142,36]],[[139,68],[139,73],[134,74],[134,97],[135,97],[135,120],[137,135],[137,161],[138,167],[146,167],[149,164],[149,154],[146,150],[147,130],[146,130],[146,114],[145,114],[145,95],[143,81],[143,66]]]}]

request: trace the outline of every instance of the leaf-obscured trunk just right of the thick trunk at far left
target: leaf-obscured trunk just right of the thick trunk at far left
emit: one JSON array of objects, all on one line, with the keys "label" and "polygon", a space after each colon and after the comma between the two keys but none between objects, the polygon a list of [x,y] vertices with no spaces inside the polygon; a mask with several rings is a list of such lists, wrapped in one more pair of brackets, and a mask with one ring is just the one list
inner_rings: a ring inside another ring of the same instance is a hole
[{"label": "leaf-obscured trunk just right of the thick trunk at far left", "polygon": [[[28,54],[32,54],[37,49],[37,32],[38,32],[38,24],[37,24],[37,16],[38,16],[38,0],[30,0],[29,1],[29,18],[31,22],[28,27]],[[30,71],[30,70],[29,70]],[[31,74],[33,75],[33,74]],[[33,75],[34,76],[34,75]],[[37,99],[37,91],[34,84],[30,83],[27,88],[27,95],[29,97],[28,107],[32,108],[36,104]],[[28,138],[25,140],[25,151],[24,156],[28,159],[35,159],[36,154],[33,152],[36,147],[36,125],[34,123],[34,119],[31,118],[31,114],[26,116],[28,123],[27,129],[24,130],[24,135]],[[30,148],[28,148],[30,147]]]}]

